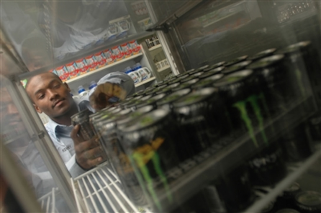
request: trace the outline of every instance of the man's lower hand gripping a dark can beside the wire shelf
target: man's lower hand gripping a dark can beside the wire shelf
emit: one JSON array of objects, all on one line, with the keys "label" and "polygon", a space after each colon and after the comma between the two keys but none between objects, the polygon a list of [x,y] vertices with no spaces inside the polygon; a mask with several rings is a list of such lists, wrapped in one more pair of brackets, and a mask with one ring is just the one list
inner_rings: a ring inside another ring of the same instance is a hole
[{"label": "man's lower hand gripping a dark can beside the wire shelf", "polygon": [[74,141],[76,162],[83,169],[90,169],[106,159],[105,153],[100,147],[98,138],[85,141],[78,135],[79,125],[76,125],[71,131],[71,138]]}]

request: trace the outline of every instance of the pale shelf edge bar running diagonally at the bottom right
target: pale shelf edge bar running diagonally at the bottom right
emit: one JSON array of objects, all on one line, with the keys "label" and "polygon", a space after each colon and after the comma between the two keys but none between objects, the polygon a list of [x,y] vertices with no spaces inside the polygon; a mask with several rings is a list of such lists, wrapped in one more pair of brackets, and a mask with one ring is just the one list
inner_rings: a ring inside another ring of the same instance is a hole
[{"label": "pale shelf edge bar running diagonally at the bottom right", "polygon": [[283,190],[290,186],[299,176],[301,176],[308,168],[320,159],[321,150],[317,150],[313,155],[303,162],[293,163],[288,166],[289,174],[282,179],[275,187],[256,187],[256,189],[263,189],[267,193],[256,193],[260,198],[253,203],[244,212],[261,212],[261,210],[268,205],[269,202],[273,201]]}]

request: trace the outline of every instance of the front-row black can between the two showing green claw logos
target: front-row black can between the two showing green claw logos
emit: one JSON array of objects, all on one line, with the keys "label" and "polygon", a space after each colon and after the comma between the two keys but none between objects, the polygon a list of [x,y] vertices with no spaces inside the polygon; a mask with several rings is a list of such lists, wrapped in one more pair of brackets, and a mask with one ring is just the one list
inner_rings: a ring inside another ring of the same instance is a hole
[{"label": "front-row black can between the two showing green claw logos", "polygon": [[213,87],[200,89],[173,103],[180,127],[193,141],[196,153],[213,144],[221,134],[217,105],[218,90]]}]

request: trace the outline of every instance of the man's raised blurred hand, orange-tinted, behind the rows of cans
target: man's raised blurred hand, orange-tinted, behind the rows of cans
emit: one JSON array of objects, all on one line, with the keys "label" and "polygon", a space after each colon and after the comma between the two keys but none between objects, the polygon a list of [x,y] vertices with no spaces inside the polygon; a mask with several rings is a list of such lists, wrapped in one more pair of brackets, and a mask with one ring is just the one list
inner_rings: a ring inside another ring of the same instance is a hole
[{"label": "man's raised blurred hand, orange-tinted, behind the rows of cans", "polygon": [[92,108],[99,111],[110,105],[108,99],[112,97],[124,100],[126,97],[126,91],[117,84],[107,82],[97,86],[96,90],[89,97],[89,101]]}]

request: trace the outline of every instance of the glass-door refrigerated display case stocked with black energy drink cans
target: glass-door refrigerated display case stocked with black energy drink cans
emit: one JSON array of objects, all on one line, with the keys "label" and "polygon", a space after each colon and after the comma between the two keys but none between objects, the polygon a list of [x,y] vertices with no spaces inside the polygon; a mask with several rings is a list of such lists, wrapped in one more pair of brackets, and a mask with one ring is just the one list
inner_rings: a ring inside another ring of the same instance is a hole
[{"label": "glass-door refrigerated display case stocked with black energy drink cans", "polygon": [[[320,9],[310,0],[6,2],[1,86],[17,111],[2,107],[2,144],[22,161],[32,145],[45,163],[27,165],[33,187],[45,170],[53,178],[40,194],[34,187],[39,206],[22,202],[30,188],[13,187],[19,202],[46,212],[319,212]],[[130,30],[107,38],[119,22]],[[116,105],[123,114],[103,111],[113,116],[92,124],[110,158],[72,177],[20,80],[152,36],[160,44],[143,40],[142,60],[162,52],[174,75],[155,74],[158,83]],[[22,169],[1,163],[13,186]]]}]

